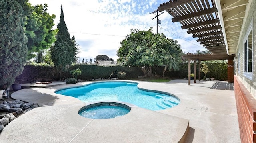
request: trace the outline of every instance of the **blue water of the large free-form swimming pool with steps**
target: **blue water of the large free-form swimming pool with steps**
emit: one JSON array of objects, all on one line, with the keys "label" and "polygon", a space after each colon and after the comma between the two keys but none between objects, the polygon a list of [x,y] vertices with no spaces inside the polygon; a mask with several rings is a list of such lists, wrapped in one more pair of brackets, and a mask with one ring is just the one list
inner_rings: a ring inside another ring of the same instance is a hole
[{"label": "blue water of the large free-form swimming pool with steps", "polygon": [[57,90],[82,102],[122,101],[149,110],[162,110],[180,104],[174,96],[140,90],[134,82],[97,82],[82,87]]}]

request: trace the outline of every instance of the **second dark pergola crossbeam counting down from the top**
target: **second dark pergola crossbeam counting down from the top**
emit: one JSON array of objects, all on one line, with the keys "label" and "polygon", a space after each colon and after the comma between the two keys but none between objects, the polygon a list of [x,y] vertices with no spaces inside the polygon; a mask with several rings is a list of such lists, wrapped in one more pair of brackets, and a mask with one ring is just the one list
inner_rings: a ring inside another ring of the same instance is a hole
[{"label": "second dark pergola crossbeam counting down from the top", "polygon": [[[177,1],[182,1],[182,0],[177,0]],[[184,15],[184,16],[179,16],[179,17],[176,17],[176,18],[172,18],[172,22],[178,22],[180,20],[186,20],[188,18],[193,18],[193,17],[196,17],[196,16],[202,16],[204,14],[210,14],[210,13],[213,13],[213,12],[218,12],[216,7],[212,7],[212,8],[209,8],[209,9],[194,12],[192,14],[187,14],[187,15]]]}]

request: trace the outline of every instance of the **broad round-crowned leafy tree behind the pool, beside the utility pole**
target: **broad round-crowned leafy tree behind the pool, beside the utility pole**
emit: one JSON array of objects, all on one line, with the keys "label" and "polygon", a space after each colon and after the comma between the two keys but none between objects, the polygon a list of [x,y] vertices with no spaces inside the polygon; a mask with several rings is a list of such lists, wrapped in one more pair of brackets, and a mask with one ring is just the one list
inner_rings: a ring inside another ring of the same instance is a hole
[{"label": "broad round-crowned leafy tree behind the pool, beside the utility pole", "polygon": [[164,66],[163,75],[167,71],[178,70],[182,50],[177,41],[168,39],[164,34],[131,29],[126,39],[121,41],[117,51],[117,61],[124,66],[144,67],[147,77],[154,76],[153,67]]}]

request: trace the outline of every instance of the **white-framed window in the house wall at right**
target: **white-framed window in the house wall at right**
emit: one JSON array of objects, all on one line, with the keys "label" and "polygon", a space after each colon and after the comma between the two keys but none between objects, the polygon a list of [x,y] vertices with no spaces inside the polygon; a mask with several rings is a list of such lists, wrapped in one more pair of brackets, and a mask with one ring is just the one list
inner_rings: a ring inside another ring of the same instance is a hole
[{"label": "white-framed window in the house wall at right", "polygon": [[244,39],[244,76],[252,80],[252,49],[253,49],[253,37],[252,37],[252,22],[249,26],[246,38]]}]

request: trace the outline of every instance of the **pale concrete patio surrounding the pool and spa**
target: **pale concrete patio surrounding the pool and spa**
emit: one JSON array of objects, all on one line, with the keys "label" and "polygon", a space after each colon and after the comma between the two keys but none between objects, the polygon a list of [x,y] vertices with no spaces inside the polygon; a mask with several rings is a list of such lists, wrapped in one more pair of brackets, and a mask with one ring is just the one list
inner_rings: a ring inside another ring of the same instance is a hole
[{"label": "pale concrete patio surrounding the pool and spa", "polygon": [[140,88],[174,94],[180,98],[180,104],[158,112],[132,107],[119,118],[88,119],[78,114],[85,103],[54,91],[91,82],[26,88],[14,92],[12,98],[37,102],[40,107],[9,123],[0,134],[0,142],[240,143],[232,84],[197,81],[188,86],[188,80],[136,82]]}]

